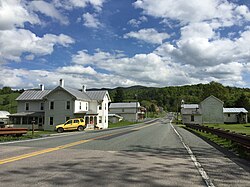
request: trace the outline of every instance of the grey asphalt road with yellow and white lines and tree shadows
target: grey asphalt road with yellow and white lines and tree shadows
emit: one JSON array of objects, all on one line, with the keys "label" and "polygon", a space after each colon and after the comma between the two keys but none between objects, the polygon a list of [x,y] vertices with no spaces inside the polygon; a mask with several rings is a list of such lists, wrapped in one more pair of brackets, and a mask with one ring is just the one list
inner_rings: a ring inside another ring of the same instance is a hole
[{"label": "grey asphalt road with yellow and white lines and tree shadows", "polygon": [[250,186],[248,162],[169,121],[0,144],[0,186]]}]

